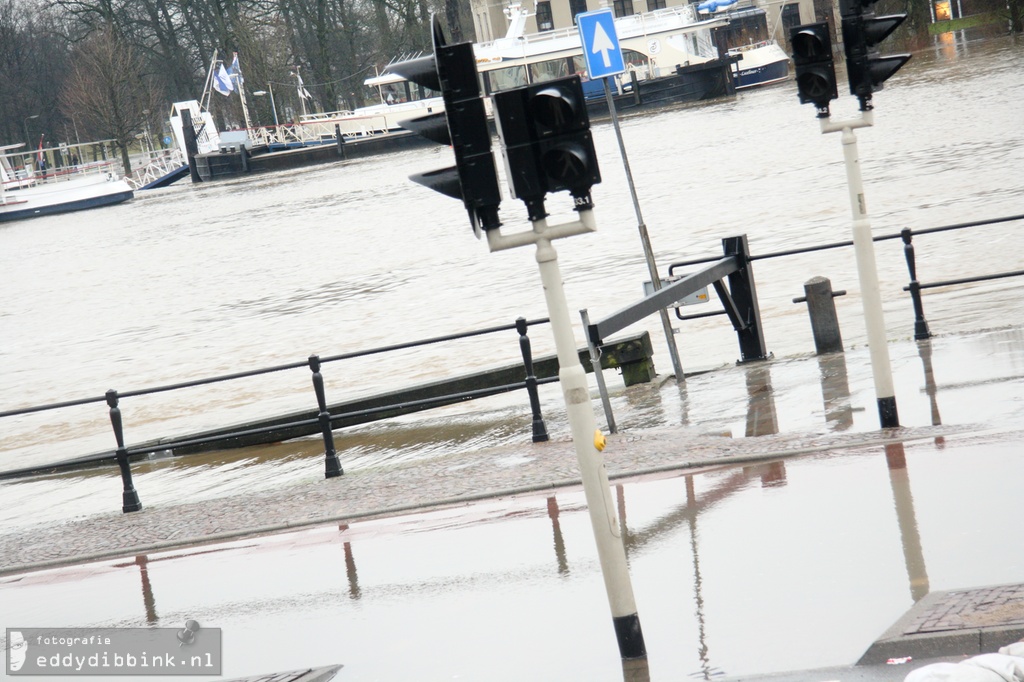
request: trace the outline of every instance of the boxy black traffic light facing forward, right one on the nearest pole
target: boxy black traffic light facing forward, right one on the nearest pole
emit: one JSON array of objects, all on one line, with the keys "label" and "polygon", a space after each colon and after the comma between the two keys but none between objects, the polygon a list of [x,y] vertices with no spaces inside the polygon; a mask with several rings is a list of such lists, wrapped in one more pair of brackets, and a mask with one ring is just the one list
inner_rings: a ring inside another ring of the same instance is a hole
[{"label": "boxy black traffic light facing forward, right one on the nearest pole", "polygon": [[531,219],[544,215],[544,197],[567,190],[577,208],[591,207],[601,181],[590,116],[579,76],[535,83],[493,95],[512,195]]}]

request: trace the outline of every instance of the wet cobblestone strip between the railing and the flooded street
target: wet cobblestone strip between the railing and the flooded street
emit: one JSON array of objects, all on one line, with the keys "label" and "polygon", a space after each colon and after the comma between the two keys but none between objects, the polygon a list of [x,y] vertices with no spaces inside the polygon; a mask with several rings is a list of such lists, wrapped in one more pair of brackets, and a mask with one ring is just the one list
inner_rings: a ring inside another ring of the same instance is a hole
[{"label": "wet cobblestone strip between the railing and the flooded street", "polygon": [[[664,428],[611,434],[603,455],[608,476],[614,480],[813,453],[838,456],[887,442],[955,433],[972,437],[971,430],[933,426],[732,438]],[[182,500],[146,506],[140,493],[143,509],[138,512],[112,510],[0,534],[0,574],[579,484],[572,442],[556,440],[349,471],[336,478],[199,504]]]}]

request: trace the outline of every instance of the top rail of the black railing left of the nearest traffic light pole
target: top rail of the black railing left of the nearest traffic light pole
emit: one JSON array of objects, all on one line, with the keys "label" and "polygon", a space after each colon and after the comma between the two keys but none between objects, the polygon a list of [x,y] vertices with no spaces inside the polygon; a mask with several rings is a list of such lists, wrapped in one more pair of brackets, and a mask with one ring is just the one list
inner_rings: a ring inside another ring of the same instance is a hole
[{"label": "top rail of the black railing left of the nearest traffic light pole", "polygon": [[[548,317],[539,317],[537,319],[526,321],[527,326],[542,325],[550,322]],[[435,336],[428,339],[421,339],[418,341],[408,341],[406,343],[396,343],[390,346],[381,346],[379,348],[369,348],[367,350],[356,350],[348,353],[340,353],[337,355],[330,355],[321,357],[321,363],[332,363],[341,359],[350,359],[352,357],[362,357],[366,355],[374,355],[377,353],[387,352],[391,350],[401,350],[403,348],[413,348],[416,346],[425,346],[432,343],[441,343],[443,341],[455,341],[457,339],[466,339],[475,336],[483,336],[485,334],[494,334],[497,332],[505,332],[509,330],[514,330],[516,328],[515,323],[511,325],[499,325],[497,327],[487,327],[485,329],[472,330],[469,332],[459,332],[457,334],[446,334],[444,336]],[[308,359],[303,359],[301,361],[287,363],[285,365],[275,365],[273,367],[259,368],[256,370],[246,370],[244,372],[232,372],[231,374],[223,374],[215,377],[206,377],[203,379],[194,379],[191,381],[181,381],[174,384],[167,384],[164,386],[153,386],[150,388],[139,388],[135,390],[128,391],[118,391],[119,398],[134,397],[138,395],[150,395],[153,393],[164,393],[167,391],[178,390],[181,388],[191,388],[195,386],[203,386],[207,384],[215,384],[224,381],[232,381],[234,379],[246,379],[249,377],[256,377],[263,374],[271,374],[273,372],[283,372],[285,370],[295,370],[302,367],[308,367]],[[106,395],[98,395],[91,397],[77,398],[74,400],[63,400],[61,402],[50,402],[47,404],[32,406],[29,408],[18,408],[15,410],[5,410],[0,412],[0,419],[4,417],[15,417],[18,415],[28,415],[37,412],[46,412],[49,410],[60,410],[63,408],[73,408],[82,404],[88,404],[90,402],[105,402]]]}]

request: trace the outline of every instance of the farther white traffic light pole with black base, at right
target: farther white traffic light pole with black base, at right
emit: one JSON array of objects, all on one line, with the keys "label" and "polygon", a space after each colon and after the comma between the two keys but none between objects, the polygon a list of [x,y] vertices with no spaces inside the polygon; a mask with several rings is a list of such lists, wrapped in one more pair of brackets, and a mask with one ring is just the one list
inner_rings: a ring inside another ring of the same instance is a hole
[{"label": "farther white traffic light pole with black base, at right", "polygon": [[846,179],[850,189],[850,209],[853,212],[853,250],[857,257],[857,275],[860,280],[860,299],[867,328],[867,346],[871,355],[871,374],[874,377],[874,396],[879,403],[882,428],[899,426],[896,394],[893,390],[892,366],[886,341],[886,321],[882,312],[882,294],[879,289],[879,271],[874,263],[874,242],[871,222],[867,219],[864,184],[860,177],[860,157],[854,128],[873,125],[870,110],[861,111],[860,119],[833,122],[827,116],[818,119],[822,133],[843,133],[843,157],[846,161]]}]

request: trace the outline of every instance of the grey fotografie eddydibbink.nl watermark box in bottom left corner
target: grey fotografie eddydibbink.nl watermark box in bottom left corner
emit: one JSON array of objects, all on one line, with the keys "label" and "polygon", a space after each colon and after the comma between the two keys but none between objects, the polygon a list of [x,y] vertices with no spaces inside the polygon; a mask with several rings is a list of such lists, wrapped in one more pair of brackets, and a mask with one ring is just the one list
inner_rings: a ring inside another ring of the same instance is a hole
[{"label": "grey fotografie eddydibbink.nl watermark box in bottom left corner", "polygon": [[220,675],[220,629],[8,628],[9,675]]}]

